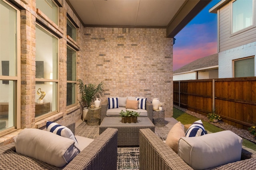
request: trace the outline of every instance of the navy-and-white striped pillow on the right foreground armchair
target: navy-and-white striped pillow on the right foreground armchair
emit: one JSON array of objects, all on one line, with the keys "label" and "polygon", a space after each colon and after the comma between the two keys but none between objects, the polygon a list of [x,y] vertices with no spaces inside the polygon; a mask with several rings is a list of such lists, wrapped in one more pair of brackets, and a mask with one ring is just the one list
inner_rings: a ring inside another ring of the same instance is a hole
[{"label": "navy-and-white striped pillow on the right foreground armchair", "polygon": [[201,120],[195,121],[186,132],[186,137],[197,137],[207,134]]}]

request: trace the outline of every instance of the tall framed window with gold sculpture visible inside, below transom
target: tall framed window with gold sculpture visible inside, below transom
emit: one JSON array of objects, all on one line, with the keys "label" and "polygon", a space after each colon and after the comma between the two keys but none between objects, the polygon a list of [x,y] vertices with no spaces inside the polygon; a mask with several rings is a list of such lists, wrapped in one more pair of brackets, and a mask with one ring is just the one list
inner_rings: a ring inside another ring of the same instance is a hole
[{"label": "tall framed window with gold sculpture visible inside, below transom", "polygon": [[57,111],[58,39],[36,25],[36,116]]}]

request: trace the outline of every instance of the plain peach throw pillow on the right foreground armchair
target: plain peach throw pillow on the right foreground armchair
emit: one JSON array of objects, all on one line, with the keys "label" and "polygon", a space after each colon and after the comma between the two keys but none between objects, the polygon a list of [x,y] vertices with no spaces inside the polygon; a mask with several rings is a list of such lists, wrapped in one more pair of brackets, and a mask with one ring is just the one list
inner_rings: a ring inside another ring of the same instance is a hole
[{"label": "plain peach throw pillow on the right foreground armchair", "polygon": [[178,154],[178,141],[180,140],[181,137],[186,137],[184,133],[184,125],[180,123],[176,123],[172,129],[169,131],[167,138],[166,138],[166,145],[168,147],[172,148],[174,152]]}]

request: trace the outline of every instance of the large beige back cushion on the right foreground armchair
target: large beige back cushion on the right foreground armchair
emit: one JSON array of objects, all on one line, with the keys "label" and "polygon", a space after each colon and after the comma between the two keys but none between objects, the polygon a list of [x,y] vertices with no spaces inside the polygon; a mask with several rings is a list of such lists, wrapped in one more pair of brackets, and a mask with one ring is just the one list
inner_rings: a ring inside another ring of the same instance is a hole
[{"label": "large beige back cushion on the right foreground armchair", "polygon": [[178,155],[196,170],[208,169],[241,159],[242,138],[232,131],[182,137]]}]

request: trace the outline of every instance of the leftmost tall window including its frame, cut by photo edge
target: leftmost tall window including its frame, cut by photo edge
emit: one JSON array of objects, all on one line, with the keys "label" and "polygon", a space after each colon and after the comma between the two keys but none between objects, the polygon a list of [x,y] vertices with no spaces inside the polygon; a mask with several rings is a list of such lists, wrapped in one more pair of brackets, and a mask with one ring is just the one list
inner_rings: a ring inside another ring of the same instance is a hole
[{"label": "leftmost tall window including its frame, cut by photo edge", "polygon": [[20,11],[4,0],[0,25],[0,133],[5,133],[20,128]]}]

